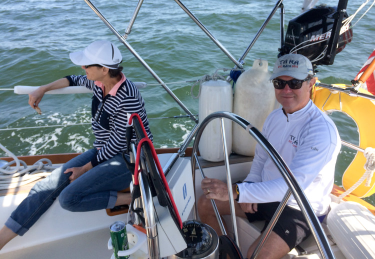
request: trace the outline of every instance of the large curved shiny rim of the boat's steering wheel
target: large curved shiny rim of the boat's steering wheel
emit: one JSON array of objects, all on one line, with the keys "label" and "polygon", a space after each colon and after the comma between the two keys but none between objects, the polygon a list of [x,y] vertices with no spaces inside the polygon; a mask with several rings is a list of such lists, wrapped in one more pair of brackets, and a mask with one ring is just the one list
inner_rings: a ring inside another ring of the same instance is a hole
[{"label": "large curved shiny rim of the boat's steering wheel", "polygon": [[[262,133],[255,128],[251,123],[249,123],[244,118],[227,111],[217,111],[209,114],[200,124],[198,131],[195,136],[195,141],[193,144],[192,152],[195,153],[198,148],[199,139],[203,132],[204,127],[215,118],[228,118],[241,127],[246,129],[249,134],[256,140],[256,142],[267,152],[268,156],[273,161],[276,168],[279,170],[281,176],[289,187],[289,190],[293,194],[301,212],[306,219],[306,222],[311,230],[312,236],[315,239],[317,247],[323,258],[334,258],[332,249],[328,243],[328,239],[321,227],[319,220],[317,219],[310,203],[308,202],[303,190],[299,186],[298,182],[294,178],[292,172],[288,168],[287,164],[284,162],[282,157],[277,153],[274,147],[268,142],[268,140],[262,135]],[[191,157],[191,168],[193,174],[193,181],[195,180],[195,157]],[[195,182],[193,183],[195,185]],[[196,210],[196,204],[194,209]]]}]

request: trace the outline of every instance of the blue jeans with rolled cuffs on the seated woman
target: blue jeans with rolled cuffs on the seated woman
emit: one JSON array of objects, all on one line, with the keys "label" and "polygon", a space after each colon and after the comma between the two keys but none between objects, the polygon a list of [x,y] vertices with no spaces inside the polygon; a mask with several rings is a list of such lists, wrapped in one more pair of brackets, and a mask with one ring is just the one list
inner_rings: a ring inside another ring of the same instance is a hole
[{"label": "blue jeans with rolled cuffs on the seated woman", "polygon": [[121,153],[86,171],[72,183],[69,183],[71,172],[63,173],[67,168],[82,166],[91,161],[95,153],[95,148],[87,150],[38,181],[11,213],[5,225],[14,233],[23,235],[57,196],[61,207],[70,211],[114,207],[117,191],[129,187],[131,181],[131,172]]}]

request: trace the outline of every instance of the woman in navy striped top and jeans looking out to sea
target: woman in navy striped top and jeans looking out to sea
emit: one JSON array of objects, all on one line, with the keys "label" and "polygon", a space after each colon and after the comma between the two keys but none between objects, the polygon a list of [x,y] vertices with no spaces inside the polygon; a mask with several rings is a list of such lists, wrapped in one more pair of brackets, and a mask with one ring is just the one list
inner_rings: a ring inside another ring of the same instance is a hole
[{"label": "woman in navy striped top and jeans looking out to sea", "polygon": [[[70,53],[71,61],[81,65],[86,75],[70,75],[38,87],[28,103],[36,110],[48,90],[82,85],[93,91],[91,126],[93,148],[72,158],[37,182],[0,230],[0,249],[16,235],[23,235],[49,208],[56,197],[70,211],[90,211],[129,204],[131,172],[122,158],[126,149],[127,113],[138,113],[148,137],[144,101],[138,89],[121,72],[119,49],[107,40],[97,40],[83,51]],[[136,139],[135,133],[132,139]],[[128,158],[128,157],[126,157]]]}]

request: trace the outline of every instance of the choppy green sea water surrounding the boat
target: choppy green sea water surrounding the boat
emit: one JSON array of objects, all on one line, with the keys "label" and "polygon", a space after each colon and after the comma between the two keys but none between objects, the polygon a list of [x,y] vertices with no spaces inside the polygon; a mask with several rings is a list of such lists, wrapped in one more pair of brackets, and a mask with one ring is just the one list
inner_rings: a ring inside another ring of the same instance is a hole
[{"label": "choppy green sea water surrounding the boat", "polygon": [[[92,2],[120,33],[125,31],[137,3],[135,0]],[[275,3],[270,0],[184,1],[235,58],[242,55]],[[301,3],[285,0],[283,4],[286,27],[288,20],[300,12]],[[360,4],[359,0],[349,0],[347,12],[354,13]],[[355,25],[353,41],[337,54],[334,64],[319,67],[317,75],[321,81],[350,83],[355,77],[374,48],[374,12],[374,8],[370,9]],[[67,74],[84,73],[71,63],[68,53],[81,50],[96,39],[117,42],[123,55],[124,73],[130,80],[155,83],[83,0],[2,0],[0,17],[0,88],[41,85]],[[245,68],[251,67],[255,58],[267,59],[273,64],[279,47],[278,31],[277,11],[245,58]],[[198,112],[197,99],[190,96],[192,83],[185,81],[212,74],[217,68],[233,67],[174,1],[145,0],[127,41],[193,114]],[[183,82],[168,84],[176,81]],[[194,123],[188,118],[159,119],[185,114],[161,86],[148,85],[141,93],[155,147],[179,146]],[[28,106],[27,95],[0,91],[0,100],[0,143],[16,155],[81,152],[91,146],[89,124],[44,127],[88,123],[90,94],[45,95],[39,105],[41,115]],[[334,119],[341,138],[358,143],[355,125],[344,115],[335,115]],[[14,129],[33,126],[38,128]],[[352,156],[353,152],[343,147],[337,170],[342,171]],[[336,183],[340,184],[339,177]]]}]

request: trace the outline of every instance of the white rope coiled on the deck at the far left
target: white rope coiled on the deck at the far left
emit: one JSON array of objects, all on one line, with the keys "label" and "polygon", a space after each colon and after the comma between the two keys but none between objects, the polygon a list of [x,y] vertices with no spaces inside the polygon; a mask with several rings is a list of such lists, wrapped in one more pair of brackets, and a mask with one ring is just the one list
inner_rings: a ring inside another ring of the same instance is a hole
[{"label": "white rope coiled on the deck at the far left", "polygon": [[[39,159],[33,165],[27,166],[24,161],[19,160],[2,144],[0,144],[0,148],[13,158],[12,161],[0,165],[0,190],[23,186],[49,175],[53,169],[57,168],[46,158]],[[14,163],[15,166],[10,167]]]}]

